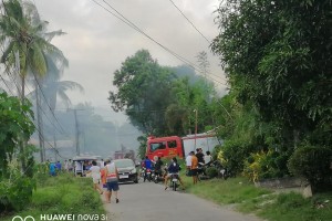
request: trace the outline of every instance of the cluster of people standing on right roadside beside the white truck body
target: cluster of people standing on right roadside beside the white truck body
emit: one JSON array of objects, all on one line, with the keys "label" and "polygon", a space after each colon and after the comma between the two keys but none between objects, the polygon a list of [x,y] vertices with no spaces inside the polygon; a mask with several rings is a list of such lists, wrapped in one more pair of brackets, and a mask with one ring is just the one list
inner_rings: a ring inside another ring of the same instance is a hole
[{"label": "cluster of people standing on right roadside beside the white truck body", "polygon": [[210,151],[206,151],[206,155],[203,154],[201,148],[196,149],[196,154],[190,151],[186,157],[186,167],[187,167],[187,176],[193,177],[194,185],[198,181],[198,167],[204,166],[212,161],[212,156]]}]

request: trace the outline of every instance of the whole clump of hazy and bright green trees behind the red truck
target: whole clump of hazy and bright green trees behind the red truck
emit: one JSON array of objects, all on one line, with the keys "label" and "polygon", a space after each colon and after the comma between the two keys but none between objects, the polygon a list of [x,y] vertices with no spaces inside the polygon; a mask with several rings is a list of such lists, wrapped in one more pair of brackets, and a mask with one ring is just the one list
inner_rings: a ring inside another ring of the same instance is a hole
[{"label": "whole clump of hazy and bright green trees behind the red truck", "polygon": [[117,92],[110,92],[108,99],[114,110],[125,109],[131,123],[146,135],[194,133],[194,109],[198,110],[198,133],[203,133],[215,126],[209,106],[214,88],[203,78],[189,82],[187,72],[193,71],[184,69],[179,74],[176,69],[160,66],[148,51],[137,51],[115,71]]}]

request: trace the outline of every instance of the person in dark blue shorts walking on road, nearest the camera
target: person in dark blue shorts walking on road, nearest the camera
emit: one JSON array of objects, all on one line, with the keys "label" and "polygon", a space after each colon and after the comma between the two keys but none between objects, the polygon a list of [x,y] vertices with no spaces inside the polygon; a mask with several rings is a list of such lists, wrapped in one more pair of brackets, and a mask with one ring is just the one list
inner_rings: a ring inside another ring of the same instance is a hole
[{"label": "person in dark blue shorts walking on road, nearest the camera", "polygon": [[111,162],[110,159],[106,160],[106,202],[111,203],[112,191],[115,194],[115,202],[118,203],[117,191],[118,191],[118,172],[114,162]]}]

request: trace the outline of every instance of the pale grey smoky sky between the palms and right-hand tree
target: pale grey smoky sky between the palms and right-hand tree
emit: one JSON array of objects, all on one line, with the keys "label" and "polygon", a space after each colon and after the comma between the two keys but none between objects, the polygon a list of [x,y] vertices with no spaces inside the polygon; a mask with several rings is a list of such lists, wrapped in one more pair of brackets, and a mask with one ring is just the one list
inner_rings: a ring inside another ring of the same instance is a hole
[{"label": "pale grey smoky sky between the palms and right-hand tree", "polygon": [[[95,0],[106,6],[102,0]],[[189,20],[212,40],[218,34],[212,14],[218,0],[173,0]],[[71,93],[74,104],[90,102],[108,107],[113,73],[121,63],[141,49],[147,49],[162,65],[181,62],[160,46],[106,12],[93,0],[33,0],[49,31],[63,30],[66,35],[53,40],[70,61],[63,80],[82,84],[85,94]],[[145,33],[177,54],[196,63],[200,51],[209,52],[207,41],[186,21],[169,0],[107,0]],[[209,53],[210,70],[222,75],[218,57]],[[216,77],[214,77],[216,78]],[[222,81],[220,78],[216,78]],[[217,84],[218,85],[218,84]]]}]

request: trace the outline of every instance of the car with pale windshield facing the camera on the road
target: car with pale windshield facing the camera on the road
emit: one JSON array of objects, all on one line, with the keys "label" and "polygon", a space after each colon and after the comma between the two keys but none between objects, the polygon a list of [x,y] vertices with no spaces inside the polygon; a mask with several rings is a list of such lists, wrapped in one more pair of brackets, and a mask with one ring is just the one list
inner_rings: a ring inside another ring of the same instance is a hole
[{"label": "car with pale windshield facing the camera on the road", "polygon": [[115,159],[120,182],[138,182],[138,175],[135,162],[132,159]]}]

